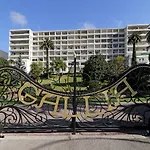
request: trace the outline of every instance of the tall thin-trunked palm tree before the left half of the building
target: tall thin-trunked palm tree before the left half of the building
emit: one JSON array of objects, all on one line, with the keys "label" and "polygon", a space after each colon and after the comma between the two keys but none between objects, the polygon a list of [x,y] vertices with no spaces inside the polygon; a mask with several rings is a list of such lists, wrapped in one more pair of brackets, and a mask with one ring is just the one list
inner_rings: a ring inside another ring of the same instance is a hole
[{"label": "tall thin-trunked palm tree before the left half of the building", "polygon": [[46,38],[43,43],[40,45],[40,49],[46,50],[46,73],[47,73],[47,79],[49,79],[49,54],[48,50],[53,49],[54,50],[54,43]]}]

